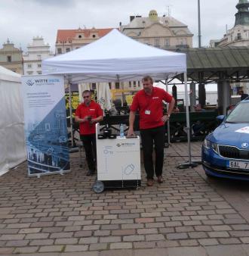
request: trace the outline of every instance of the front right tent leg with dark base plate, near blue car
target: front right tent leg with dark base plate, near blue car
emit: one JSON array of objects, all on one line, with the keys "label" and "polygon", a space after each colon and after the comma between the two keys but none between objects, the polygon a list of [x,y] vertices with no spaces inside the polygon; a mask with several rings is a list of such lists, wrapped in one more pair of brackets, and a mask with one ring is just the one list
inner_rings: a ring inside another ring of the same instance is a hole
[{"label": "front right tent leg with dark base plate, near blue car", "polygon": [[177,168],[185,169],[189,167],[197,167],[200,164],[200,161],[192,161],[191,159],[191,145],[190,145],[190,123],[189,123],[189,95],[188,95],[188,85],[187,85],[187,76],[184,73],[184,84],[185,84],[185,106],[186,106],[186,130],[188,136],[188,153],[189,153],[189,161],[179,164]]}]

